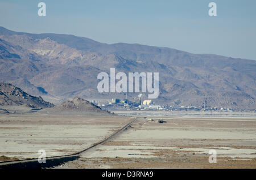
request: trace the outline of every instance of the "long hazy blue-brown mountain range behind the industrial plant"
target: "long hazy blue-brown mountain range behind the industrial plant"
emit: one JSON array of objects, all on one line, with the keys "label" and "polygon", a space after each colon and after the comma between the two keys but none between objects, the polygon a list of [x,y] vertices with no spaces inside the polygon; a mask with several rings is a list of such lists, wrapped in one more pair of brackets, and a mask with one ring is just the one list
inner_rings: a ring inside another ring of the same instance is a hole
[{"label": "long hazy blue-brown mountain range behind the industrial plant", "polygon": [[[109,73],[110,68],[126,73],[159,72],[156,104],[202,106],[207,102],[218,108],[256,108],[254,60],[0,27],[0,82],[55,104],[76,96],[125,98],[124,93],[97,91],[97,75]],[[127,97],[137,100],[138,93]]]}]

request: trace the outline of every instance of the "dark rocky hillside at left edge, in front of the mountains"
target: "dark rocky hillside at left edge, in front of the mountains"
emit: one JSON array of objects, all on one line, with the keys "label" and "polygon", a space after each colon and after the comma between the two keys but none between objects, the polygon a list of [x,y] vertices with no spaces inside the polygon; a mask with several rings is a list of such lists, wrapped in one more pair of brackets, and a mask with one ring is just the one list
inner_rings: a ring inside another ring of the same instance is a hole
[{"label": "dark rocky hillside at left edge, in front of the mountains", "polygon": [[0,83],[0,105],[27,105],[31,108],[53,107],[53,104],[44,101],[42,97],[28,95],[22,89],[8,83]]}]

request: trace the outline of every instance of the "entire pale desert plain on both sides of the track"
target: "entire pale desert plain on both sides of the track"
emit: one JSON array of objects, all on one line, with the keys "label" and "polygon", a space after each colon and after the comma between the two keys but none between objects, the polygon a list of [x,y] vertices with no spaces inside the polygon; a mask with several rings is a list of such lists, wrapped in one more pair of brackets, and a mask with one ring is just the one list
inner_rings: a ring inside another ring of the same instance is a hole
[{"label": "entire pale desert plain on both sides of the track", "polygon": [[[54,168],[256,168],[255,113],[114,113],[65,114],[20,107],[14,114],[0,114],[0,161],[37,158],[39,149],[47,157],[71,155],[136,118],[77,160]],[[216,163],[209,163],[210,149],[217,153]]]}]

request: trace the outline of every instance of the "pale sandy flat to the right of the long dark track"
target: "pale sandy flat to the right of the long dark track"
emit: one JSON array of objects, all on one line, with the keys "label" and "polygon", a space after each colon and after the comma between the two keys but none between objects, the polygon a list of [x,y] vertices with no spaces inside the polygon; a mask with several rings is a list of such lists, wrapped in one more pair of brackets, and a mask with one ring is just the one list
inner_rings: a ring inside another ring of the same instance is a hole
[{"label": "pale sandy flat to the right of the long dark track", "polygon": [[256,118],[148,115],[61,168],[256,168]]}]

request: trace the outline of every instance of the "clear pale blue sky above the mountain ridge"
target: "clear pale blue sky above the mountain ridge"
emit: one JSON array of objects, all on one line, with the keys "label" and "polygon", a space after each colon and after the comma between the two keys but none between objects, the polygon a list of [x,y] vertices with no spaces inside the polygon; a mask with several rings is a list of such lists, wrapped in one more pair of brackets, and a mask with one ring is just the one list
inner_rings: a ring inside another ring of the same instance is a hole
[{"label": "clear pale blue sky above the mountain ridge", "polygon": [[[210,2],[217,16],[208,15]],[[256,60],[255,0],[0,0],[0,26]]]}]

